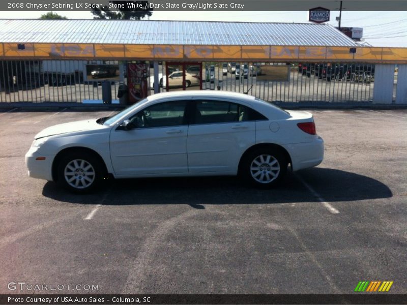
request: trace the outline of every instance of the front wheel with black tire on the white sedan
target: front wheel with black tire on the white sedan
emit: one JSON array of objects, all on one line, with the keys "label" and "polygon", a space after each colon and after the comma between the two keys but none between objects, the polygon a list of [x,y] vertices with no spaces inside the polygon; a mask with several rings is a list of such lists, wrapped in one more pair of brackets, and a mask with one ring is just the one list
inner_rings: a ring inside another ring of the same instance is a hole
[{"label": "front wheel with black tire on the white sedan", "polygon": [[[83,163],[81,163],[82,161]],[[94,190],[100,185],[102,178],[106,176],[100,161],[86,152],[63,156],[57,168],[57,183],[77,194],[84,194]],[[68,181],[69,178],[73,179],[73,181]]]}]

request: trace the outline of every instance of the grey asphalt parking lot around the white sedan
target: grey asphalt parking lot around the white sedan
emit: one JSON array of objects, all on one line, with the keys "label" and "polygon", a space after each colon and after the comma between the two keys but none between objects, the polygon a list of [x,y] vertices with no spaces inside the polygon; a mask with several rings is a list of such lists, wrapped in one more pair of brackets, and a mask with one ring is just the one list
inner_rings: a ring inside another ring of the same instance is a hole
[{"label": "grey asphalt parking lot around the white sedan", "polygon": [[407,110],[311,112],[325,160],[277,189],[128,179],[84,196],[29,178],[24,154],[45,127],[109,112],[0,113],[0,293],[407,293]]}]

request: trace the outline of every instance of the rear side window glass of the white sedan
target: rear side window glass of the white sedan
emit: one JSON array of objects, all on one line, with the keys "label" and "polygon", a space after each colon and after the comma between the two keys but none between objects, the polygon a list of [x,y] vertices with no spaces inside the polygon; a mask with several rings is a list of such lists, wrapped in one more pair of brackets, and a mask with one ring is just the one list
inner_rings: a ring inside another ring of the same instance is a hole
[{"label": "rear side window glass of the white sedan", "polygon": [[225,101],[197,101],[195,124],[232,123],[267,120],[267,117],[244,105]]}]

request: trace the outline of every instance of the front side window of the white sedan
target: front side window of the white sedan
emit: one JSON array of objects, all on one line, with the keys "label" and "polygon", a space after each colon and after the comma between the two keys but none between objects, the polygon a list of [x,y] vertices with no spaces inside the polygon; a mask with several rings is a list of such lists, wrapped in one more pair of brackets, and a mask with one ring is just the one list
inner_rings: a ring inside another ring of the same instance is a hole
[{"label": "front side window of the white sedan", "polygon": [[144,108],[130,118],[134,128],[179,126],[184,124],[186,101],[171,101]]}]

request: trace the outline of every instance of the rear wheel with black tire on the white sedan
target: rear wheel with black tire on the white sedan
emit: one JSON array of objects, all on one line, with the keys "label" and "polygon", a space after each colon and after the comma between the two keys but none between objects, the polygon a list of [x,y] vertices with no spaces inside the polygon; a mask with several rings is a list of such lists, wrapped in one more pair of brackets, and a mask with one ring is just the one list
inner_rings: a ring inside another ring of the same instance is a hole
[{"label": "rear wheel with black tire on the white sedan", "polygon": [[250,184],[267,189],[281,182],[287,172],[287,166],[288,161],[280,151],[260,148],[245,158],[241,173]]}]

